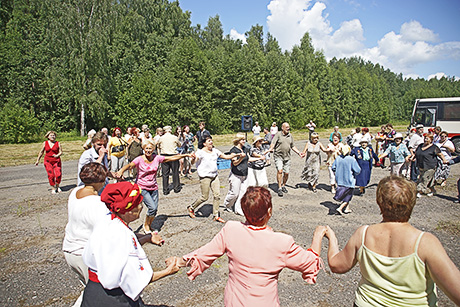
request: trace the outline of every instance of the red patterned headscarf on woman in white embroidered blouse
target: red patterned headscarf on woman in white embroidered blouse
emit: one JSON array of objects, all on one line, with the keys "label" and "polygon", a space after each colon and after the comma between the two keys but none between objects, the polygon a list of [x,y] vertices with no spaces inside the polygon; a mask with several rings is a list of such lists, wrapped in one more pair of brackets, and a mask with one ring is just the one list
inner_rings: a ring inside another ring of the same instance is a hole
[{"label": "red patterned headscarf on woman in white embroidered blouse", "polygon": [[114,213],[125,214],[136,208],[143,197],[137,184],[123,181],[108,184],[101,194],[101,200]]}]

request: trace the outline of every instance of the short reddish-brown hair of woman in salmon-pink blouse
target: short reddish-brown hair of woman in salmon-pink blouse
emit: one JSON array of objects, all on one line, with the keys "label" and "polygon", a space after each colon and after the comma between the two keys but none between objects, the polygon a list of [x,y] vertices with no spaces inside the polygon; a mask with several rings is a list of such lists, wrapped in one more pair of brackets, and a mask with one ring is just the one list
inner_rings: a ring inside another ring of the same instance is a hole
[{"label": "short reddish-brown hair of woman in salmon-pink blouse", "polygon": [[266,222],[272,196],[264,187],[249,187],[241,198],[241,209],[249,224],[262,226]]}]

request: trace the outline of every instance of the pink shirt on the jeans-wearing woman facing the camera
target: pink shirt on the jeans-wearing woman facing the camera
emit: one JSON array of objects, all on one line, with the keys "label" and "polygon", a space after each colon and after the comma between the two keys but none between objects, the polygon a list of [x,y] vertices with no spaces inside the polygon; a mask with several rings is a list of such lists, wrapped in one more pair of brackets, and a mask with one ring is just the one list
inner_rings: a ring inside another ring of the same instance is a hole
[{"label": "pink shirt on the jeans-wearing woman facing the camera", "polygon": [[160,163],[164,161],[165,157],[153,155],[153,161],[145,162],[144,156],[139,156],[133,160],[137,167],[137,180],[136,183],[143,190],[154,191],[158,190],[157,171]]}]

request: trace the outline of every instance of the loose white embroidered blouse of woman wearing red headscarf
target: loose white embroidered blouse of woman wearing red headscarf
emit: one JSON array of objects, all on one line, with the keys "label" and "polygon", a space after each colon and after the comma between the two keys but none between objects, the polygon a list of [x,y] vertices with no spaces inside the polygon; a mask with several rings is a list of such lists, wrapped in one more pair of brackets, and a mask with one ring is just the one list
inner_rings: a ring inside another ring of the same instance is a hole
[{"label": "loose white embroidered blouse of woman wearing red headscarf", "polygon": [[153,270],[141,244],[119,218],[94,229],[83,262],[97,274],[104,289],[121,288],[134,301],[152,279]]}]

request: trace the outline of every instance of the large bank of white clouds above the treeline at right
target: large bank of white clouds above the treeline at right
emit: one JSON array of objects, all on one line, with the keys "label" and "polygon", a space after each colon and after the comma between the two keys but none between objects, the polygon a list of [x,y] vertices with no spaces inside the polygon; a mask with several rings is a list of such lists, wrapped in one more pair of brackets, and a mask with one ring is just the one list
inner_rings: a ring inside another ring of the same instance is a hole
[{"label": "large bank of white clouds above the treeline at right", "polygon": [[[353,0],[351,0],[353,1]],[[365,48],[364,30],[359,19],[344,21],[334,30],[324,13],[326,4],[312,0],[272,0],[267,8],[269,32],[281,48],[291,50],[309,32],[313,46],[323,50],[327,59],[361,56],[406,77],[418,77],[417,65],[438,60],[460,60],[460,41],[436,44],[439,38],[420,22],[404,23],[399,33],[388,32],[377,46]]]}]

